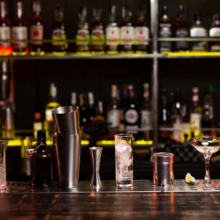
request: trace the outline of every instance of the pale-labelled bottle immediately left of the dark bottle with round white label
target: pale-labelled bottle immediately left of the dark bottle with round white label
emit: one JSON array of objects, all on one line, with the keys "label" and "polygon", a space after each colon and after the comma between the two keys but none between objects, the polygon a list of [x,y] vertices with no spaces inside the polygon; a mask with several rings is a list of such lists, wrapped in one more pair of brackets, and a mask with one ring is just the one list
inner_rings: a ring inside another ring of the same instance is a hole
[{"label": "pale-labelled bottle immediately left of the dark bottle with round white label", "polygon": [[111,128],[119,128],[120,126],[120,107],[117,100],[117,86],[112,85],[111,102],[107,110],[107,122]]}]

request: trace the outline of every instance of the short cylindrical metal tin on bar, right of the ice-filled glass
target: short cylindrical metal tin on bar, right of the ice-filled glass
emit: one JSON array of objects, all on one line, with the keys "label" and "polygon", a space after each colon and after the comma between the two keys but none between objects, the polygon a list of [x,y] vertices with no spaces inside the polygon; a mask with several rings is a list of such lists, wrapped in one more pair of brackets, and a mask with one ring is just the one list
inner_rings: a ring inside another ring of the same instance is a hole
[{"label": "short cylindrical metal tin on bar, right of the ice-filled glass", "polygon": [[[174,155],[171,153],[155,153],[153,155],[153,183],[158,186],[172,185]],[[163,187],[162,187],[163,188]]]}]

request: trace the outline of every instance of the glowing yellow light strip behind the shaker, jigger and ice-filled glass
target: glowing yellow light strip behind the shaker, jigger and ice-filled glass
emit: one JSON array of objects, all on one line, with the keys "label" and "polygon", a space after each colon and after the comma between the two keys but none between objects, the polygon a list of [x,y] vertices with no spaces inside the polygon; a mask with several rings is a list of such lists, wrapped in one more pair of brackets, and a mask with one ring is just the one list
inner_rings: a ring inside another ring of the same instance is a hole
[{"label": "glowing yellow light strip behind the shaker, jigger and ice-filled glass", "polygon": [[[32,141],[32,146],[36,143],[36,141]],[[16,147],[16,146],[21,146],[22,141],[21,140],[10,140],[8,143],[8,147]],[[145,140],[138,140],[138,141],[134,141],[134,146],[146,146],[146,145],[152,145],[153,141],[145,141]],[[24,140],[24,146],[27,146],[27,140]],[[52,141],[47,141],[47,145],[48,146],[52,146],[53,142]],[[82,146],[87,146],[89,145],[89,141],[87,140],[81,140],[81,145]],[[97,146],[114,146],[115,145],[115,141],[113,140],[102,140],[102,141],[97,141],[96,143]]]}]

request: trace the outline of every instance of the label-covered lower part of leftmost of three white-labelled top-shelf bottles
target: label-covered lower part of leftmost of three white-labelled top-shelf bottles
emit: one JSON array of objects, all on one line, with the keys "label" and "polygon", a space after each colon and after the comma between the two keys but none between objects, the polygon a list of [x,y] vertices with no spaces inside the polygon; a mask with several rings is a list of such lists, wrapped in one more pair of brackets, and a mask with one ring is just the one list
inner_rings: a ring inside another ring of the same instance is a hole
[{"label": "label-covered lower part of leftmost of three white-labelled top-shelf bottles", "polygon": [[109,50],[117,51],[119,44],[119,28],[107,27],[106,28],[106,44],[109,46]]}]

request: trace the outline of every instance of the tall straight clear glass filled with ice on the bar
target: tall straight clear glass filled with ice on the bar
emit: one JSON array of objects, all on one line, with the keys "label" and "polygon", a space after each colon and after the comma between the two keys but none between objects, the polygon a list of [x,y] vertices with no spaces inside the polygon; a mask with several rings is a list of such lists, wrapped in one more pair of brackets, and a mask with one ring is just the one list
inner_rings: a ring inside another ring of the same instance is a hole
[{"label": "tall straight clear glass filled with ice on the bar", "polygon": [[133,135],[115,135],[116,187],[133,187]]}]

